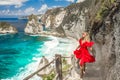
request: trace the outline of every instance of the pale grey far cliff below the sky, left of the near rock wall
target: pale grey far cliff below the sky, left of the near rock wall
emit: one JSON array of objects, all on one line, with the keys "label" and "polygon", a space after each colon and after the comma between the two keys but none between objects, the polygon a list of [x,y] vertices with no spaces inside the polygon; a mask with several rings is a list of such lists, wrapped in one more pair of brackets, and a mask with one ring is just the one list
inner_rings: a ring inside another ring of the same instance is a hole
[{"label": "pale grey far cliff below the sky, left of the near rock wall", "polygon": [[85,30],[85,15],[90,3],[88,0],[86,3],[72,4],[66,8],[48,10],[41,20],[46,27],[78,39]]}]

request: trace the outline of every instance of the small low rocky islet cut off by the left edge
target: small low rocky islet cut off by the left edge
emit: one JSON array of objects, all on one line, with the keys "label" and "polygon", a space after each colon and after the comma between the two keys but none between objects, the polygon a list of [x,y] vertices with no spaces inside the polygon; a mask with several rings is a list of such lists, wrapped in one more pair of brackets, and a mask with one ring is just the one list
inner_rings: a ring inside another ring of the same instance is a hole
[{"label": "small low rocky islet cut off by the left edge", "polygon": [[0,22],[0,34],[17,33],[17,29],[7,22]]}]

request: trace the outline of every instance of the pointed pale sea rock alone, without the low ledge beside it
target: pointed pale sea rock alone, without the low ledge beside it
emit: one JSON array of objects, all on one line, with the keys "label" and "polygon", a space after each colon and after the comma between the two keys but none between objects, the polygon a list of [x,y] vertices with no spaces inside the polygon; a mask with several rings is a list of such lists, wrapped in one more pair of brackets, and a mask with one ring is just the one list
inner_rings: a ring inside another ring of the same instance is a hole
[{"label": "pointed pale sea rock alone, without the low ledge beside it", "polygon": [[32,14],[28,17],[28,23],[24,31],[28,34],[38,34],[43,31],[42,23],[39,22],[39,19],[36,15]]}]

